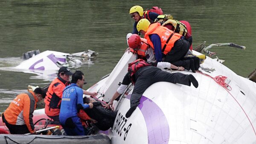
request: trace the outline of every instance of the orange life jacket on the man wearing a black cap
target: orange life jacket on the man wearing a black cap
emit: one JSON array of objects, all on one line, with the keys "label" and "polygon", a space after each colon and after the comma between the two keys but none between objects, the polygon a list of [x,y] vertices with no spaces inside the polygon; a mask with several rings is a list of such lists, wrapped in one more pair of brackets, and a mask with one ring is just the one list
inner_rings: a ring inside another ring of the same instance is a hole
[{"label": "orange life jacket on the man wearing a black cap", "polygon": [[[61,98],[62,96],[57,96],[53,91],[53,86],[57,87],[58,85],[64,85],[64,88],[69,85],[69,82],[65,82],[64,80],[60,80],[59,77],[54,79],[50,84],[44,102],[49,105],[49,108],[60,108]],[[63,90],[61,90],[63,92]]]}]

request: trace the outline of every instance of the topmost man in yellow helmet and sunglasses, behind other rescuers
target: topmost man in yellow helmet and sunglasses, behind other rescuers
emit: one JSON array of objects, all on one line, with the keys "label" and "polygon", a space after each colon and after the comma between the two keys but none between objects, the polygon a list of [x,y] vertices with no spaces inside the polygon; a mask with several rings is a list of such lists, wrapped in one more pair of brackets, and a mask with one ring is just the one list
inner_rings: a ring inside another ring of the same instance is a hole
[{"label": "topmost man in yellow helmet and sunglasses, behind other rescuers", "polygon": [[[156,11],[155,11],[156,12]],[[147,18],[148,20],[151,21],[151,23],[154,23],[154,20],[158,17],[159,14],[155,13],[153,11],[143,11],[143,8],[141,6],[133,6],[130,8],[130,14],[131,14],[131,18],[133,18],[135,20],[134,23],[134,29],[132,34],[138,34],[139,32],[137,31],[137,23],[143,19],[143,18]],[[163,12],[163,11],[162,11]]]}]

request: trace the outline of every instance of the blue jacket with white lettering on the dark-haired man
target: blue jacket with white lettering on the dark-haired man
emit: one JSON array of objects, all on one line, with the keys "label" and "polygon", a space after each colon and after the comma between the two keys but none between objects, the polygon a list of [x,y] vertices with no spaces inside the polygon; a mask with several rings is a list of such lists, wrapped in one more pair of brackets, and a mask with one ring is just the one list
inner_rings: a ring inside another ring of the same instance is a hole
[{"label": "blue jacket with white lettering on the dark-haired man", "polygon": [[88,104],[83,103],[83,90],[72,83],[64,89],[62,94],[60,121],[77,116],[77,104],[82,104],[84,109],[89,108]]}]

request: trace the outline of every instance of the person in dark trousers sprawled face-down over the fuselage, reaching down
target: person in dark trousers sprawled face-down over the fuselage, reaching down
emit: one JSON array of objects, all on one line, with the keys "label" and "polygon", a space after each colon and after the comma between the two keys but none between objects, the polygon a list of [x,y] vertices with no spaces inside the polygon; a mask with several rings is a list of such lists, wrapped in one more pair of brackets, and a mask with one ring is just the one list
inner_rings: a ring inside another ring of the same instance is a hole
[{"label": "person in dark trousers sprawled face-down over the fuselage, reaching down", "polygon": [[130,117],[133,111],[140,103],[140,98],[145,90],[156,82],[172,82],[190,86],[191,83],[198,88],[198,81],[192,74],[168,73],[160,68],[149,64],[143,59],[137,59],[128,64],[128,73],[126,73],[122,84],[112,96],[110,102],[105,104],[106,108],[112,106],[113,101],[124,92],[125,88],[132,82],[134,85],[130,99],[130,109],[125,114],[126,118]]}]

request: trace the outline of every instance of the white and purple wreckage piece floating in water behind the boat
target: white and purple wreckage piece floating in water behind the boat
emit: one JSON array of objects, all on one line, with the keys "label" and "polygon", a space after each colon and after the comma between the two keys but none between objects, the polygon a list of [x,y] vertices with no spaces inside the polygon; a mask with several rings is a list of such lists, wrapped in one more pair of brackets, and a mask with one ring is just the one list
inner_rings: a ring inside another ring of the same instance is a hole
[{"label": "white and purple wreckage piece floating in water behind the boat", "polygon": [[20,70],[58,70],[61,66],[79,67],[83,62],[91,64],[90,58],[95,55],[94,51],[88,50],[74,54],[62,53],[58,51],[29,51],[23,54],[23,57],[29,58],[16,66]]}]

